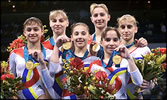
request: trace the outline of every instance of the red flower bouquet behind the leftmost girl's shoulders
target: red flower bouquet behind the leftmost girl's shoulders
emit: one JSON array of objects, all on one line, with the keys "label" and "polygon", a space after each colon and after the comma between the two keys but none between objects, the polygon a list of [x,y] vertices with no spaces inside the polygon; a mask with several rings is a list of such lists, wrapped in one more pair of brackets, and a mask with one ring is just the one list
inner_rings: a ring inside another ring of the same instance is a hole
[{"label": "red flower bouquet behind the leftmost girl's shoulders", "polygon": [[[44,33],[47,33],[48,29],[45,29],[46,25],[44,25],[43,27],[44,27]],[[45,41],[44,35],[41,37],[40,41],[41,42]],[[27,43],[26,37],[22,34],[17,39],[12,41],[12,43],[10,43],[10,46],[7,47],[7,51],[11,52],[13,49],[21,48],[25,46],[26,43]]]}]

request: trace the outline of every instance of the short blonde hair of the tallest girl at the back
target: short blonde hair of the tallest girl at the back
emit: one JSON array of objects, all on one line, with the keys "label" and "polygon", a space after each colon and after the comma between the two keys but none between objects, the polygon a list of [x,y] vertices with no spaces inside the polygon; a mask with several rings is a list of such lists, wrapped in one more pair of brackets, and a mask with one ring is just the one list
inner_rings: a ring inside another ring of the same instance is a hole
[{"label": "short blonde hair of the tallest girl at the back", "polygon": [[97,7],[100,7],[100,8],[103,8],[108,14],[109,14],[109,11],[108,11],[108,8],[105,4],[101,3],[101,4],[96,4],[96,3],[93,3],[90,5],[90,13],[92,15],[93,11],[95,8]]}]

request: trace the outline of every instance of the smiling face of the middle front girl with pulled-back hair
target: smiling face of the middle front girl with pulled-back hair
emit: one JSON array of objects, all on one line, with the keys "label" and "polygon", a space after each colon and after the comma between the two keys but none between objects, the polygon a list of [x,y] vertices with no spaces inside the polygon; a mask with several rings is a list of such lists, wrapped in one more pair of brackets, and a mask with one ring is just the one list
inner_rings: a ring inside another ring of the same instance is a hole
[{"label": "smiling face of the middle front girl with pulled-back hair", "polygon": [[87,46],[89,38],[89,31],[85,26],[78,25],[74,27],[71,39],[74,41],[75,47],[83,48]]}]

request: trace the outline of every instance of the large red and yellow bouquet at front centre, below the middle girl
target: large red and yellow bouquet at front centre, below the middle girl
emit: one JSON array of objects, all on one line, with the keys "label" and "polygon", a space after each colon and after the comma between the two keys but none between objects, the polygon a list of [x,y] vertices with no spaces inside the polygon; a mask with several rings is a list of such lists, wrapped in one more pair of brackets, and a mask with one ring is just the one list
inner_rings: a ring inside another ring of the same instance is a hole
[{"label": "large red and yellow bouquet at front centre, below the middle girl", "polygon": [[107,74],[97,71],[94,75],[84,69],[80,58],[63,61],[66,78],[63,84],[67,89],[81,99],[115,99],[116,89],[109,84]]}]

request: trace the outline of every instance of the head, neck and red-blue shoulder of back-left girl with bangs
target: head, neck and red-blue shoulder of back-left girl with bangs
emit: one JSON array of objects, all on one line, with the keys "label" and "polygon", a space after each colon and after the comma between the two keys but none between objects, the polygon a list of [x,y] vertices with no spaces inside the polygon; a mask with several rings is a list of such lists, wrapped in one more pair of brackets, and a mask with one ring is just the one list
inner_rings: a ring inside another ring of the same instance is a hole
[{"label": "head, neck and red-blue shoulder of back-left girl with bangs", "polygon": [[55,41],[59,36],[66,36],[66,28],[69,25],[69,20],[63,10],[52,10],[49,14],[49,25],[52,29],[53,36],[43,42],[44,47],[53,50]]}]

